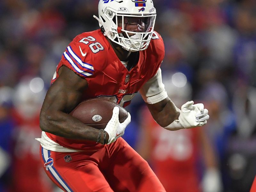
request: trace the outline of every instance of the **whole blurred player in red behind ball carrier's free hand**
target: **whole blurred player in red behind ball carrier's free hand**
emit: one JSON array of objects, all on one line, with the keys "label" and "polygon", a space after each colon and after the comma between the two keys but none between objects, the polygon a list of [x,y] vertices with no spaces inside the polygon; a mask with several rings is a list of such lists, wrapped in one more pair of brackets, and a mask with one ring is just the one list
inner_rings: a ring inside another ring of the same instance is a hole
[{"label": "whole blurred player in red behind ball carrier's free hand", "polygon": [[[165,77],[163,83],[177,107],[191,99],[192,87],[184,74]],[[222,191],[216,154],[204,129],[170,132],[154,121],[147,108],[142,109],[140,122],[138,153],[149,162],[167,192]],[[200,169],[205,170],[202,183]]]}]

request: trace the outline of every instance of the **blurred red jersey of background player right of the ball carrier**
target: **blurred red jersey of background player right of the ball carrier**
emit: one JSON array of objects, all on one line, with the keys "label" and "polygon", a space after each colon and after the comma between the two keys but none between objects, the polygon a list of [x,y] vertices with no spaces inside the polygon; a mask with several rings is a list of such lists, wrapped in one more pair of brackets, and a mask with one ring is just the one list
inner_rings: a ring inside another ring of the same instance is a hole
[{"label": "blurred red jersey of background player right of the ball carrier", "polygon": [[[198,128],[169,131],[152,118],[147,108],[142,111],[145,131],[149,135],[150,164],[167,192],[200,192],[196,167]],[[147,149],[144,149],[147,150]]]}]

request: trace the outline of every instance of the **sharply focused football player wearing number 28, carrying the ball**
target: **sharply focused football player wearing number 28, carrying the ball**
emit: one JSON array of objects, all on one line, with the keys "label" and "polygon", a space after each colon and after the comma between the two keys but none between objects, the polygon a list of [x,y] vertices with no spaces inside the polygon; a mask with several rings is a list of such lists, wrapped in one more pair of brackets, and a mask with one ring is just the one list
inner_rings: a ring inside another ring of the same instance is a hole
[{"label": "sharply focused football player wearing number 28, carrying the ball", "polygon": [[154,31],[152,0],[100,0],[100,29],[76,36],[63,53],[41,109],[40,155],[45,172],[64,191],[165,191],[148,163],[122,138],[131,116],[118,108],[104,130],[68,115],[82,100],[105,98],[127,106],[140,92],[162,127],[206,124],[203,104],[178,109],[167,96],[160,65],[162,37]]}]

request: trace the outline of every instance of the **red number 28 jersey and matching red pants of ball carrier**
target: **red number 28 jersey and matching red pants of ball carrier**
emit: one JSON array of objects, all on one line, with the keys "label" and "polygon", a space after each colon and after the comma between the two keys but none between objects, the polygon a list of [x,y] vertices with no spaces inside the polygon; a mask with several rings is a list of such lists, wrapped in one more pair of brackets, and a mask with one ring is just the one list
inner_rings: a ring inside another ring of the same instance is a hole
[{"label": "red number 28 jersey and matching red pants of ball carrier", "polygon": [[[65,65],[88,82],[82,100],[105,97],[126,106],[157,73],[164,58],[162,38],[154,32],[148,48],[139,53],[137,65],[128,71],[100,30],[82,33],[64,52],[52,83],[58,78],[60,67]],[[165,191],[148,163],[122,138],[101,145],[46,135],[60,146],[82,151],[40,150],[45,172],[65,191]]]}]

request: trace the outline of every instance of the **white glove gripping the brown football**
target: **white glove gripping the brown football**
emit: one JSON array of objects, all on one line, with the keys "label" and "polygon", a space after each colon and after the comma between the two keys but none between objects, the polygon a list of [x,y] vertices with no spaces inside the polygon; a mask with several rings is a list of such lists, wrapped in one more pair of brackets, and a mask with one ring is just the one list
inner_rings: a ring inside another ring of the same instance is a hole
[{"label": "white glove gripping the brown football", "polygon": [[124,120],[123,123],[119,122],[118,115],[119,115],[119,108],[114,107],[113,115],[112,115],[110,121],[108,122],[106,128],[104,129],[108,133],[108,136],[109,136],[107,144],[113,143],[119,137],[123,136],[126,126],[131,122],[130,113],[128,113],[128,117]]}]

